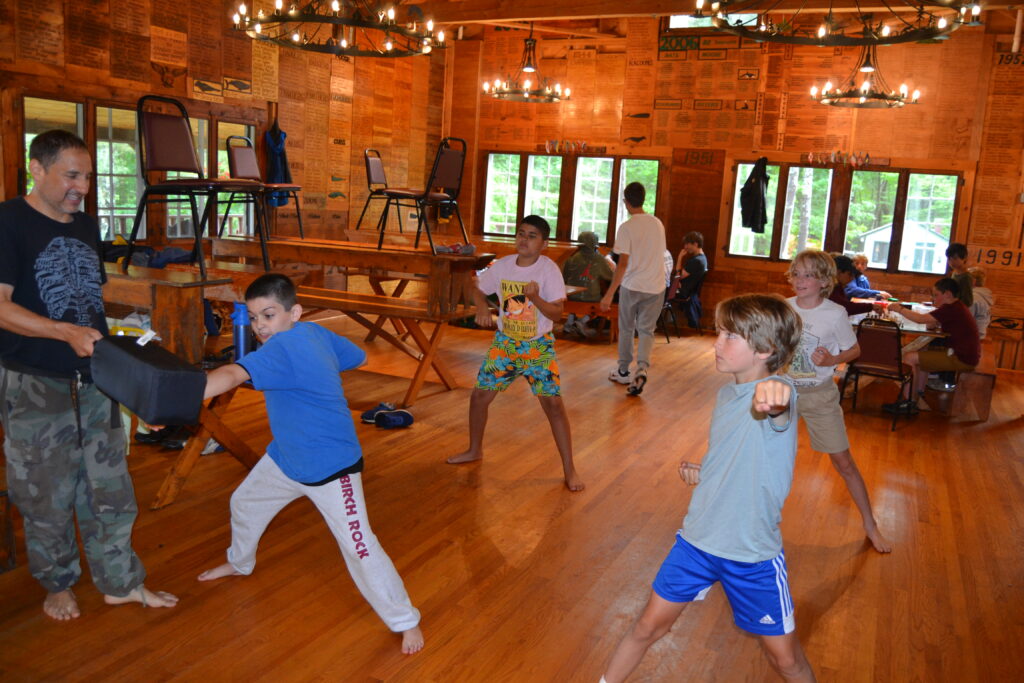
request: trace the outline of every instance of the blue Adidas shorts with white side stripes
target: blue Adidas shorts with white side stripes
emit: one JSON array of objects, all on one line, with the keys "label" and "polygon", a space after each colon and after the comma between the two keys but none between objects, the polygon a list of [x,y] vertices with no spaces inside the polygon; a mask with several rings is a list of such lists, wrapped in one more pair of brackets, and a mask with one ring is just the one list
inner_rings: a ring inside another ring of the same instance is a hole
[{"label": "blue Adidas shorts with white side stripes", "polygon": [[669,602],[693,602],[703,600],[715,582],[722,582],[732,620],[743,631],[781,636],[796,628],[784,553],[764,562],[734,562],[677,536],[651,588]]}]

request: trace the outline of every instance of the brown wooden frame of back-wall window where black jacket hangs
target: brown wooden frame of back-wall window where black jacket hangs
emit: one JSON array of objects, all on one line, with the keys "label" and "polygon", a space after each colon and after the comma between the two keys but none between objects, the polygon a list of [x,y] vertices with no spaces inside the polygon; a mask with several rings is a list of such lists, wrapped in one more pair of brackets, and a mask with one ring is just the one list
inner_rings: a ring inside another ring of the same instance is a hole
[{"label": "brown wooden frame of back-wall window where black jacket hangs", "polygon": [[[935,168],[918,165],[884,166],[878,164],[864,164],[852,166],[850,164],[838,163],[810,163],[802,160],[777,160],[769,158],[768,164],[778,168],[778,189],[776,190],[775,206],[770,211],[770,216],[774,216],[775,229],[772,232],[771,248],[768,256],[753,256],[749,254],[736,254],[729,251],[732,241],[732,221],[735,213],[739,210],[735,202],[736,191],[742,185],[745,178],[739,177],[739,166],[741,164],[755,164],[757,157],[736,157],[730,160],[732,169],[732,183],[727,200],[729,206],[728,215],[725,216],[726,239],[725,255],[729,258],[752,259],[759,262],[784,262],[792,259],[783,258],[782,251],[782,219],[785,211],[785,191],[788,184],[790,169],[795,167],[826,168],[833,172],[833,184],[828,198],[828,208],[826,211],[824,225],[824,244],[822,249],[827,252],[843,252],[846,246],[847,217],[850,207],[850,188],[853,182],[854,171],[878,171],[886,173],[897,173],[899,175],[896,185],[896,200],[893,209],[892,232],[889,242],[889,256],[885,268],[871,267],[872,270],[887,273],[900,273],[911,275],[931,274],[918,270],[901,270],[899,268],[899,254],[903,244],[903,226],[906,219],[907,195],[910,184],[910,175],[947,175],[956,178],[956,196],[953,198],[952,220],[949,226],[949,242],[955,242],[959,223],[961,207],[964,195],[969,189],[967,182],[967,172],[958,168]],[[724,184],[724,183],[723,183]],[[748,228],[740,228],[748,229]]]}]

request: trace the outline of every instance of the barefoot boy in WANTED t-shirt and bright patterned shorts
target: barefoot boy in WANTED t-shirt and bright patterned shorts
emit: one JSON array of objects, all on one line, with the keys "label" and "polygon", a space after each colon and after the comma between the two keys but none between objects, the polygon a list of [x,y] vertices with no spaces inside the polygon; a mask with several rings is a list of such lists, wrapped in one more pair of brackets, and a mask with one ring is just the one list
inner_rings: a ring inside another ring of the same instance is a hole
[{"label": "barefoot boy in WANTED t-shirt and bright patterned shorts", "polygon": [[551,226],[544,218],[526,216],[516,230],[516,254],[495,261],[479,276],[473,291],[476,324],[494,327],[486,297],[498,294],[498,332],[480,365],[469,402],[469,450],[446,462],[458,465],[483,458],[487,409],[495,396],[521,375],[541,401],[551,425],[562,459],[565,486],[577,492],[583,490],[584,484],[572,463],[569,419],[562,403],[555,337],[551,331],[553,321],[562,316],[565,283],[555,262],[541,255],[550,233]]}]

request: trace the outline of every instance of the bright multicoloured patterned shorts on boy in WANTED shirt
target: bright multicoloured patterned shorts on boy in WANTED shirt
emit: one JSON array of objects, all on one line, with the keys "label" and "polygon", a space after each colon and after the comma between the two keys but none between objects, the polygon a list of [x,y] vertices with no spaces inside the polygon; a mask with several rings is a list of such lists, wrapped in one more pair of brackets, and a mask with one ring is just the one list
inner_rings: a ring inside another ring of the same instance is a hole
[{"label": "bright multicoloured patterned shorts on boy in WANTED shirt", "polygon": [[505,391],[520,375],[526,378],[535,396],[561,395],[553,334],[518,341],[499,331],[476,374],[476,388]]}]

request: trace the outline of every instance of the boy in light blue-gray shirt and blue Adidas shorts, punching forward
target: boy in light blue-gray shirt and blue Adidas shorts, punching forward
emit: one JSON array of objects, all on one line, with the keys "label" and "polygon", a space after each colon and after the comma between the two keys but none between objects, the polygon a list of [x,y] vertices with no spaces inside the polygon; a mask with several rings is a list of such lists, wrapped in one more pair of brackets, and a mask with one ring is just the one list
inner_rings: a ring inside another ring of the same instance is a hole
[{"label": "boy in light blue-gray shirt and blue Adidas shorts, punching forward", "polygon": [[702,600],[716,582],[736,626],[761,638],[776,672],[815,680],[795,633],[778,528],[797,456],[797,407],[793,385],[775,373],[800,343],[800,318],[781,297],[763,294],[727,299],[715,317],[715,367],[734,382],[718,392],[702,462],[679,466],[683,480],[696,485],[683,527],[602,683],[626,680],[686,604]]}]

